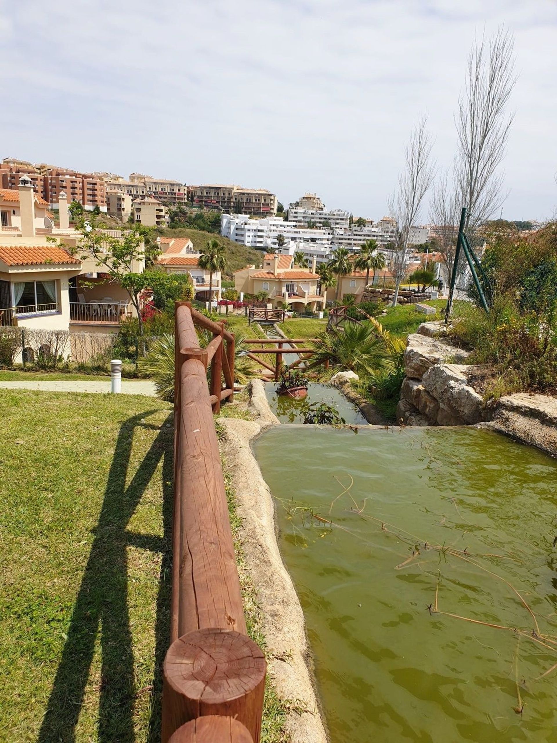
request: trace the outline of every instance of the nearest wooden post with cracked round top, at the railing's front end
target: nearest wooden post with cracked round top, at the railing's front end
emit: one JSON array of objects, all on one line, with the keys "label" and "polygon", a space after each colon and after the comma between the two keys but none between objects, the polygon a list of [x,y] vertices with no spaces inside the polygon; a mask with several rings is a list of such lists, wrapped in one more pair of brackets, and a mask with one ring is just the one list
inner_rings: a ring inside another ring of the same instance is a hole
[{"label": "nearest wooden post with cracked round top, at the railing's front end", "polygon": [[235,718],[258,743],[266,669],[261,649],[239,632],[201,629],[179,637],[163,666],[162,743],[181,725],[212,715]]}]

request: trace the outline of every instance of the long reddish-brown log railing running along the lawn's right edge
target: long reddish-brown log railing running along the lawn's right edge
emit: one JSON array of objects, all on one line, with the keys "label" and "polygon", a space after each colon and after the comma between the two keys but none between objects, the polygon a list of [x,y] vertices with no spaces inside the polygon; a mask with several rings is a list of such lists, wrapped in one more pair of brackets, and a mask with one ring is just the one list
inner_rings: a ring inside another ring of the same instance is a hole
[{"label": "long reddish-brown log railing running along the lawn's right edge", "polygon": [[[196,325],[213,334],[206,348],[199,345]],[[246,635],[212,416],[221,400],[232,398],[233,389],[234,336],[189,303],[177,302],[171,645],[163,665],[163,743],[258,743],[261,734],[266,663]]]}]

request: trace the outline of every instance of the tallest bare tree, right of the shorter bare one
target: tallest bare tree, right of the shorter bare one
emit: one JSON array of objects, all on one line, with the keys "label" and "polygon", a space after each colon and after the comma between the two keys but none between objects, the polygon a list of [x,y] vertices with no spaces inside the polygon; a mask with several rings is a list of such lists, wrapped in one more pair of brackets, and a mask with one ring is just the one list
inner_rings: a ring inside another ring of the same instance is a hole
[{"label": "tallest bare tree, right of the shorter bare one", "polygon": [[504,174],[499,166],[513,120],[508,104],[515,82],[512,34],[499,27],[489,39],[475,39],[466,65],[466,86],[455,114],[458,149],[452,174],[439,178],[431,200],[430,218],[437,225],[448,276],[455,259],[462,207],[468,207],[465,227],[473,239],[478,226],[498,212],[505,201]]}]

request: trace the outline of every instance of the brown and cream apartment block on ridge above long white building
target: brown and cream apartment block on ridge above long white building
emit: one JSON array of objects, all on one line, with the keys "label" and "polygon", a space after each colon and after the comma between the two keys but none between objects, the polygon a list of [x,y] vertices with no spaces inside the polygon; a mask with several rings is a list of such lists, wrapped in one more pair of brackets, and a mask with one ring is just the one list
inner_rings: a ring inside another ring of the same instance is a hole
[{"label": "brown and cream apartment block on ridge above long white building", "polygon": [[276,215],[277,199],[267,189],[250,189],[241,186],[206,184],[188,186],[193,204],[223,212],[238,212],[257,217]]}]

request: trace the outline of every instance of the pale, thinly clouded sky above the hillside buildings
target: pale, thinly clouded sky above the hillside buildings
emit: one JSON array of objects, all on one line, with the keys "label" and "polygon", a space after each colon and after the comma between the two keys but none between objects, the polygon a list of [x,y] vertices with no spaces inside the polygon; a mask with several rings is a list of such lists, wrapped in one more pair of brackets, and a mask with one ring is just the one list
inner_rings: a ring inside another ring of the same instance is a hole
[{"label": "pale, thinly clouded sky above the hillside buildings", "polygon": [[420,114],[451,165],[466,56],[501,24],[519,76],[502,215],[549,218],[556,0],[0,0],[0,158],[316,192],[377,219]]}]

